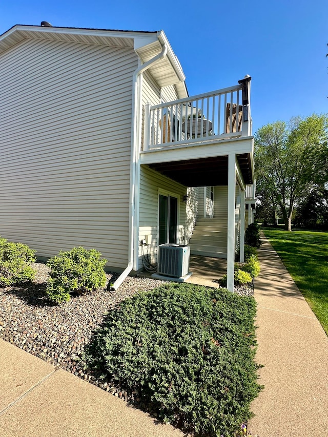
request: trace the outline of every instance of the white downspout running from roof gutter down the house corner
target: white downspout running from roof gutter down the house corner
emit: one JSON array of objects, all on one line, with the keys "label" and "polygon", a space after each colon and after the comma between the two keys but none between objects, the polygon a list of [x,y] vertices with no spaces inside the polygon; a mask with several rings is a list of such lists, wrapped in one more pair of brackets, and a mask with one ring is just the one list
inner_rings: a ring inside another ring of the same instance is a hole
[{"label": "white downspout running from roof gutter down the house corner", "polygon": [[139,147],[137,144],[137,121],[139,120],[139,106],[138,105],[138,84],[140,74],[148,70],[148,68],[159,59],[163,59],[168,52],[165,44],[162,46],[161,52],[149,59],[145,64],[140,65],[133,73],[132,81],[132,132],[131,132],[131,161],[130,161],[130,197],[129,197],[129,262],[121,275],[116,279],[112,285],[112,289],[117,290],[125,278],[129,275],[133,268],[133,246],[134,246],[134,224],[135,224],[135,203],[136,203],[136,168],[139,160]]}]

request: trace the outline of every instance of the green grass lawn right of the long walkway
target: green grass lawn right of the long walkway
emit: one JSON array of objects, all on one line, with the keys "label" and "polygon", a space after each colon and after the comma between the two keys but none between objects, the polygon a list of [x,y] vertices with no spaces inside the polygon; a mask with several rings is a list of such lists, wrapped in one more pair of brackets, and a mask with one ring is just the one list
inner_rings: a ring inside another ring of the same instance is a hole
[{"label": "green grass lawn right of the long walkway", "polygon": [[263,232],[328,335],[328,232]]}]

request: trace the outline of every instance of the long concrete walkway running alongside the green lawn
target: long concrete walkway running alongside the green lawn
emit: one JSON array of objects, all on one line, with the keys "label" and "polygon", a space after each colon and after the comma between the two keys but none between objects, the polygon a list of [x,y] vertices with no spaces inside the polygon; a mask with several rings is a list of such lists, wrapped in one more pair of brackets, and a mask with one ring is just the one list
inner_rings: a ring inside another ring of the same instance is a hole
[{"label": "long concrete walkway running alongside the green lawn", "polygon": [[252,404],[252,436],[328,436],[328,339],[266,238],[255,280],[256,361],[265,386]]}]

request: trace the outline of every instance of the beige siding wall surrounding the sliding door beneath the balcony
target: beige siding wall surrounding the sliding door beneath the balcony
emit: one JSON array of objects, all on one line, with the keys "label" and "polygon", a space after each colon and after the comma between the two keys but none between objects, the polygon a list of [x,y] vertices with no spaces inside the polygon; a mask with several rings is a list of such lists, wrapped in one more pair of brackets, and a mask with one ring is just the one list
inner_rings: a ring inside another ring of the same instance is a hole
[{"label": "beige siding wall surrounding the sliding door beneath the balcony", "polygon": [[[152,262],[156,261],[158,244],[158,190],[179,196],[179,244],[188,244],[197,218],[198,189],[186,188],[160,173],[151,170],[146,165],[140,170],[140,210],[139,210],[139,241],[146,235],[152,235],[148,247]],[[182,198],[188,194],[187,204]],[[147,253],[147,246],[144,248]],[[139,268],[142,267],[142,248],[139,248]]]}]

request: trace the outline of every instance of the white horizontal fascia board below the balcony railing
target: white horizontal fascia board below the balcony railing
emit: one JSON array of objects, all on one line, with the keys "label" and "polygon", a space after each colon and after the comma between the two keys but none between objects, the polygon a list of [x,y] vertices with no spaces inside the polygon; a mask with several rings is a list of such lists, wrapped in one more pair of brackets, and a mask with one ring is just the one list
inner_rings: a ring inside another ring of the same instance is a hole
[{"label": "white horizontal fascia board below the balcony railing", "polygon": [[153,164],[160,162],[183,161],[185,159],[210,158],[215,156],[227,156],[252,153],[253,137],[242,139],[221,140],[211,144],[196,144],[188,146],[173,146],[165,150],[147,150],[140,153],[141,164]]}]

